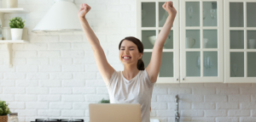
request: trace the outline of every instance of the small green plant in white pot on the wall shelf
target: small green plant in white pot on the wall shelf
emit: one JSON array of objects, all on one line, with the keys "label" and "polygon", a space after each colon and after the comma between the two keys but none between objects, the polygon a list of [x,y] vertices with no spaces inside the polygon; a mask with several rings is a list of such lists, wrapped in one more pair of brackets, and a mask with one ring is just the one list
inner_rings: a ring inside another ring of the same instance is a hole
[{"label": "small green plant in white pot on the wall shelf", "polygon": [[9,19],[9,27],[11,28],[12,40],[21,40],[24,25],[25,20],[22,21],[20,17]]}]

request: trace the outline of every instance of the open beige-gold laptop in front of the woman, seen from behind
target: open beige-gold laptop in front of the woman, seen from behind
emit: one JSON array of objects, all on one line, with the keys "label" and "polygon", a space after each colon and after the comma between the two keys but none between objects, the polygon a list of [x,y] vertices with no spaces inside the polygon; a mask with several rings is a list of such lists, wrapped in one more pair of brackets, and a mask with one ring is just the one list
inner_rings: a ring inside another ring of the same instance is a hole
[{"label": "open beige-gold laptop in front of the woman, seen from behind", "polygon": [[90,122],[141,122],[139,103],[90,103]]}]

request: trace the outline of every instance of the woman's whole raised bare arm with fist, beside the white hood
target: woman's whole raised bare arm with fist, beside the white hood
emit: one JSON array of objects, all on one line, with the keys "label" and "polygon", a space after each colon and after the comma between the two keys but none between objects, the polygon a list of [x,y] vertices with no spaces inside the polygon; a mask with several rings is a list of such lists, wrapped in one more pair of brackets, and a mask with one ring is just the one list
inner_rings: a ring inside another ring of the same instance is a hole
[{"label": "woman's whole raised bare arm with fist, beside the white hood", "polygon": [[105,53],[102,49],[102,46],[96,37],[95,33],[91,30],[90,25],[88,24],[87,19],[85,19],[85,14],[87,14],[90,11],[90,6],[88,4],[81,4],[79,9],[79,20],[83,27],[83,31],[85,33],[86,39],[90,43],[90,47],[93,50],[94,57],[96,59],[96,65],[102,75],[103,80],[105,81],[106,85],[108,85],[108,82],[113,75],[113,67],[108,64],[107,58],[105,56]]}]

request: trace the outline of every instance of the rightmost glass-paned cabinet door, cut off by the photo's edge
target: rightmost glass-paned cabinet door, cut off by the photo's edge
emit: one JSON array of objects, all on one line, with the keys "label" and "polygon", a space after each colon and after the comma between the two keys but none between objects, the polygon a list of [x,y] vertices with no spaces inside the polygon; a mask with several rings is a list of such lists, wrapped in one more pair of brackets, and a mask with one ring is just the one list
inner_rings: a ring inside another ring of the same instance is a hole
[{"label": "rightmost glass-paned cabinet door, cut off by the photo's edge", "polygon": [[224,0],[225,82],[256,82],[256,1]]}]

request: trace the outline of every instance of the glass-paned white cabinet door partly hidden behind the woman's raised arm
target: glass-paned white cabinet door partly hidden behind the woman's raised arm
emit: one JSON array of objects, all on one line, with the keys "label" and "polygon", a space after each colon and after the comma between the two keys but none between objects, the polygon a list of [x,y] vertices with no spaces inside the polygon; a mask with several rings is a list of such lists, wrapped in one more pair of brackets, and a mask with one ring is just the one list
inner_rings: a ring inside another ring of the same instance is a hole
[{"label": "glass-paned white cabinet door partly hidden behind the woman's raised arm", "polygon": [[[148,66],[154,42],[166,23],[168,13],[162,5],[166,0],[137,0],[137,38],[143,42],[143,62]],[[179,83],[179,26],[178,0],[172,3],[177,15],[163,49],[160,73],[156,83]]]}]

